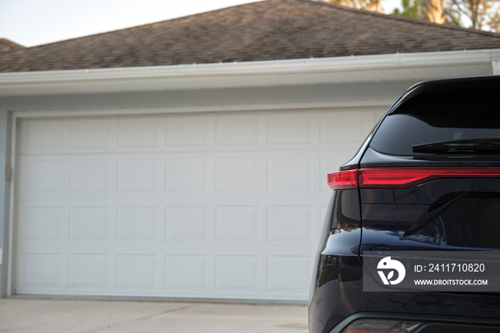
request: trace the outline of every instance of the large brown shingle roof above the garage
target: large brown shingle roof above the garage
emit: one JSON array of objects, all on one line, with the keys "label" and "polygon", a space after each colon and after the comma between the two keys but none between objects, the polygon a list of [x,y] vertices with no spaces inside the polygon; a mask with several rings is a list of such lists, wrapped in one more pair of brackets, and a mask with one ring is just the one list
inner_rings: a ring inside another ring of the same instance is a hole
[{"label": "large brown shingle roof above the garage", "polygon": [[310,0],[267,0],[0,55],[0,71],[51,71],[396,52],[500,49],[500,34]]}]

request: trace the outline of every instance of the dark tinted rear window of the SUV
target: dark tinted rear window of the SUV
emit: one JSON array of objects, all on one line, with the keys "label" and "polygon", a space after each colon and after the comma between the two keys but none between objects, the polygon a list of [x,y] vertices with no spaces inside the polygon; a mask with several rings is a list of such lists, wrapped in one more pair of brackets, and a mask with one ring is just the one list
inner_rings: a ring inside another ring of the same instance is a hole
[{"label": "dark tinted rear window of the SUV", "polygon": [[376,151],[420,155],[412,146],[471,138],[500,139],[498,89],[466,89],[424,93],[386,116],[371,140]]}]

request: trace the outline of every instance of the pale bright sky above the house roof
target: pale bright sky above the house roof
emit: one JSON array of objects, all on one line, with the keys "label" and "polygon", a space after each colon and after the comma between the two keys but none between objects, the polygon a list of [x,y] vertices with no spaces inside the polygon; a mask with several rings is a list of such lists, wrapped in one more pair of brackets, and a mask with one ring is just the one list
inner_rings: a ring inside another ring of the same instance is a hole
[{"label": "pale bright sky above the house roof", "polygon": [[[36,46],[255,0],[0,0],[0,38]],[[399,0],[384,0],[389,11]]]}]

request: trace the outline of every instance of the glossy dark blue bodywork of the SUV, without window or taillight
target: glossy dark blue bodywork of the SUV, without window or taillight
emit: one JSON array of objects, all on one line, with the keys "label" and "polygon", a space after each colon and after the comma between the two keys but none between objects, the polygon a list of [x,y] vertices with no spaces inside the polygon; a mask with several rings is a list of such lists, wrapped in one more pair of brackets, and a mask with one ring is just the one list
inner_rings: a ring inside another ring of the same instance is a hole
[{"label": "glossy dark blue bodywork of the SUV, without window or taillight", "polygon": [[[500,91],[500,76],[416,84],[396,101],[354,158],[339,170],[380,167],[500,170],[500,154],[398,155],[371,146],[384,119],[398,114],[398,109],[406,107],[405,103],[416,96],[442,91],[453,96],[451,92],[457,89],[497,88]],[[496,117],[500,121],[500,114]],[[423,333],[439,329],[500,332],[498,293],[364,292],[362,283],[364,251],[499,250],[499,217],[500,179],[434,179],[408,189],[334,191],[316,254],[309,332],[341,332],[349,324],[349,318],[366,313],[374,317],[419,316],[428,322],[426,329],[421,329]],[[442,317],[436,319],[436,314]],[[479,327],[474,326],[478,323]]]}]

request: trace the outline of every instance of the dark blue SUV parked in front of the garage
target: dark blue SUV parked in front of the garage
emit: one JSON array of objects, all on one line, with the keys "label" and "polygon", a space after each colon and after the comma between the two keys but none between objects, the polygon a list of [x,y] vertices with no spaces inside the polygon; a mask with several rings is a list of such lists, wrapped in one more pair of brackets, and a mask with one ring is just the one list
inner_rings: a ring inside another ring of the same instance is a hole
[{"label": "dark blue SUV parked in front of the garage", "polygon": [[500,332],[500,289],[363,284],[369,252],[500,250],[500,76],[412,86],[328,182],[310,333]]}]

